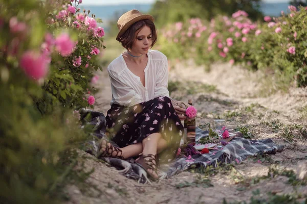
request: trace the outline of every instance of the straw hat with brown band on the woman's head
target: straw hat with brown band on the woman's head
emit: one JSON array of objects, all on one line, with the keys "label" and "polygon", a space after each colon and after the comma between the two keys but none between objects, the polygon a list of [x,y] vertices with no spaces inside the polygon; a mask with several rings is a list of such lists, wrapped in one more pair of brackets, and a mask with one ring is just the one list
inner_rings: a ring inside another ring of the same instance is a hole
[{"label": "straw hat with brown band on the woman's head", "polygon": [[119,30],[116,40],[119,41],[119,37],[125,33],[125,31],[135,22],[139,20],[151,20],[152,22],[155,19],[151,15],[141,14],[138,10],[134,9],[124,13],[117,21],[117,28]]}]

